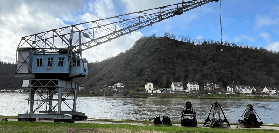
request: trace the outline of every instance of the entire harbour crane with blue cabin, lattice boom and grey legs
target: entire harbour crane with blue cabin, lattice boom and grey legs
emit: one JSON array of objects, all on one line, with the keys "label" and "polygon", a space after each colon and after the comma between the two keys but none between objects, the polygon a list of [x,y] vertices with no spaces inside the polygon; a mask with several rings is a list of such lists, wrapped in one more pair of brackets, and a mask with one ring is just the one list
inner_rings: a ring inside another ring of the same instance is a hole
[{"label": "entire harbour crane with blue cabin, lattice boom and grey legs", "polygon": [[[74,122],[86,119],[85,113],[76,111],[78,83],[73,78],[88,75],[88,61],[82,51],[124,36],[146,26],[181,15],[183,12],[219,0],[191,0],[124,15],[84,22],[21,38],[16,52],[15,77],[22,79],[22,87],[29,87],[29,112],[18,115],[18,121],[35,121],[50,118]],[[67,90],[67,91],[66,91]],[[46,92],[49,95],[45,96]],[[34,99],[34,94],[39,99]],[[57,94],[57,98],[54,97]],[[64,96],[64,94],[66,94]],[[73,106],[67,97],[74,94]],[[34,109],[34,101],[40,101]],[[53,105],[52,102],[57,102]],[[61,111],[64,102],[71,111]],[[49,107],[39,111],[43,104]],[[58,108],[58,109],[56,109]],[[35,113],[39,111],[39,113]]]}]

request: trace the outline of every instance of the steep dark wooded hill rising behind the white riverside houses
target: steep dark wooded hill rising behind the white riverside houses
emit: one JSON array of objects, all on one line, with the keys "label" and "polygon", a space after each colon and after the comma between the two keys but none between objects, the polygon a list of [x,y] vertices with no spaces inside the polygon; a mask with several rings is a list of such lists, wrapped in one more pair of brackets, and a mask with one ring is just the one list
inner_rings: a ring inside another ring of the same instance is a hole
[{"label": "steep dark wooded hill rising behind the white riverside houses", "polygon": [[226,87],[233,80],[238,85],[278,87],[278,75],[279,54],[263,48],[222,47],[216,42],[193,45],[167,37],[142,37],[125,53],[89,63],[89,76],[77,81],[86,89],[118,82],[135,89],[148,81],[155,87],[170,87],[173,81],[217,82]]}]

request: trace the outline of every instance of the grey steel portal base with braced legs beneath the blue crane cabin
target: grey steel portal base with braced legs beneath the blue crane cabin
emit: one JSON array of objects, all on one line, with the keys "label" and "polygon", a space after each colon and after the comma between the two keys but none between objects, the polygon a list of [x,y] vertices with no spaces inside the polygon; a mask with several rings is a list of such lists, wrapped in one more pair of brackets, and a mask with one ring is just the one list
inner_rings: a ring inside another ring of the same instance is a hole
[{"label": "grey steel portal base with braced legs beneath the blue crane cabin", "polygon": [[[29,97],[26,99],[29,103],[29,112],[27,110],[25,114],[19,114],[19,118],[21,119],[18,120],[24,121],[26,118],[26,121],[33,121],[33,118],[52,118],[55,114],[57,114],[57,118],[59,119],[63,119],[63,117],[66,117],[65,119],[74,119],[75,117],[86,119],[87,116],[85,113],[76,112],[77,89],[77,82],[69,82],[58,79],[30,79]],[[48,93],[48,95],[45,96],[43,93]],[[38,94],[38,99],[34,99],[35,94]],[[73,94],[73,99],[69,99],[68,96],[70,94]],[[57,99],[54,99],[54,95],[57,95]],[[67,100],[72,100],[73,105],[70,106],[69,103],[67,103]],[[38,106],[35,109],[34,101],[38,102]],[[57,101],[57,104],[54,106],[52,105],[53,101]],[[62,111],[62,102],[64,102],[64,104],[66,104],[71,111]],[[43,104],[47,104],[48,110],[40,111],[39,114],[35,114],[35,112],[39,111]],[[64,116],[64,114],[66,115]],[[73,114],[75,117],[72,116]]]}]

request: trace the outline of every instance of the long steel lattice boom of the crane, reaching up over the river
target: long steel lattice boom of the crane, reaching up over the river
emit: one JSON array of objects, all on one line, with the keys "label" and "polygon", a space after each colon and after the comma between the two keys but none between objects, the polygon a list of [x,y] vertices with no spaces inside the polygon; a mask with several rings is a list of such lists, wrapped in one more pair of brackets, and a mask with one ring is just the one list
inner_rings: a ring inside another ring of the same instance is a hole
[{"label": "long steel lattice boom of the crane, reaching up over the river", "polygon": [[18,49],[39,50],[41,53],[59,53],[59,50],[68,50],[69,55],[79,57],[86,49],[212,1],[214,0],[192,0],[53,29],[22,37]]}]

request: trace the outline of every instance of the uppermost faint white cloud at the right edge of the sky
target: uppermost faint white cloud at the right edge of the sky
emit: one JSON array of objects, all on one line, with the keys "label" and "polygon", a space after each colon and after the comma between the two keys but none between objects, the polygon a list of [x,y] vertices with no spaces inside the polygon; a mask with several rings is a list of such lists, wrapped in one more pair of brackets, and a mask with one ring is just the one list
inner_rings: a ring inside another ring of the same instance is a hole
[{"label": "uppermost faint white cloud at the right edge of the sky", "polygon": [[266,26],[266,25],[277,25],[279,24],[279,18],[275,17],[272,18],[267,15],[256,15],[256,28],[261,27],[261,26]]}]

